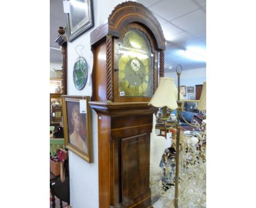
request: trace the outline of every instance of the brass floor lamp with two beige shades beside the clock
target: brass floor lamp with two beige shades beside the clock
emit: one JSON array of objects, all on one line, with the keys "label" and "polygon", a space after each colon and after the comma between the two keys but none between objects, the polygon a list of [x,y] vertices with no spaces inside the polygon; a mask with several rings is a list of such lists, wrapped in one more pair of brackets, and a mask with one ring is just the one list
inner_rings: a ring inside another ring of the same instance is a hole
[{"label": "brass floor lamp with two beige shades beside the clock", "polygon": [[[180,70],[178,70],[180,68]],[[182,73],[182,66],[176,66],[176,73],[178,76],[178,89],[174,84],[173,78],[167,77],[160,77],[159,78],[159,85],[153,95],[152,99],[149,101],[148,105],[152,105],[154,107],[162,107],[163,108],[163,118],[164,125],[166,128],[166,120],[168,120],[166,110],[167,107],[171,110],[177,109],[176,120],[171,127],[176,127],[177,134],[176,134],[176,170],[175,170],[175,197],[174,197],[174,207],[178,208],[178,182],[179,182],[179,137],[181,134],[181,125],[179,124],[179,115],[181,115],[182,119],[186,121],[182,115],[182,105],[183,96],[180,94],[180,76]],[[202,94],[197,104],[197,109],[200,111],[206,111],[206,82],[203,83]],[[188,122],[186,122],[189,124]],[[190,126],[194,126],[189,124]],[[198,126],[194,126],[198,127]]]}]

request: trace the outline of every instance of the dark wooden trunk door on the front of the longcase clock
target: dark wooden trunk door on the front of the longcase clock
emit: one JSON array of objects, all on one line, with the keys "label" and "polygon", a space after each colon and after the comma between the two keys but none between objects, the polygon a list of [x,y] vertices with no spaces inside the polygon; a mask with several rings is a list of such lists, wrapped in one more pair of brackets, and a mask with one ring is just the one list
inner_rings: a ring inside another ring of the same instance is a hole
[{"label": "dark wooden trunk door on the front of the longcase clock", "polygon": [[131,201],[148,192],[149,148],[147,134],[121,139],[121,201],[129,207]]}]

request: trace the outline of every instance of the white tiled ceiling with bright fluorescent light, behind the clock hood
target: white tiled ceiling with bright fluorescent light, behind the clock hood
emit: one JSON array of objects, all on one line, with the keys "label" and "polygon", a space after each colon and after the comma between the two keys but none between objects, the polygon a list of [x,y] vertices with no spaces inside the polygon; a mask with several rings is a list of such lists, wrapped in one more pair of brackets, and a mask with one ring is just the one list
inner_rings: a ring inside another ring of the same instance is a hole
[{"label": "white tiled ceiling with bright fluorescent light, behind the clock hood", "polygon": [[[166,38],[165,72],[206,67],[206,0],[138,0],[151,10]],[[59,26],[66,27],[62,0],[50,0],[50,47]],[[62,62],[61,51],[50,50],[50,62]]]}]

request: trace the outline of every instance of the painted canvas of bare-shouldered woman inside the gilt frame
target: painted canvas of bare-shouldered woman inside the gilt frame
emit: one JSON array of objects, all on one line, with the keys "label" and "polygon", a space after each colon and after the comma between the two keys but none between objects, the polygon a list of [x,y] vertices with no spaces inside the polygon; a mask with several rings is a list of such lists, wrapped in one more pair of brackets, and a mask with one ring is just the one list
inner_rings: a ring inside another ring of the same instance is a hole
[{"label": "painted canvas of bare-shouldered woman inside the gilt frame", "polygon": [[[85,154],[88,154],[88,142],[86,139],[86,128],[84,125],[85,114],[79,112],[78,103],[73,103],[68,123],[69,123],[69,142]],[[84,118],[83,118],[84,117]]]}]

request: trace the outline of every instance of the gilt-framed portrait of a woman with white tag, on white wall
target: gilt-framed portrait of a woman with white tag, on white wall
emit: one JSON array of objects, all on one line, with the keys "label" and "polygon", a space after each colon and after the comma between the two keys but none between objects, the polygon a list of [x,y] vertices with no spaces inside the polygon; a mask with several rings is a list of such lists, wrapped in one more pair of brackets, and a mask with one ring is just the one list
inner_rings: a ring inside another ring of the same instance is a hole
[{"label": "gilt-framed portrait of a woman with white tag, on white wall", "polygon": [[62,96],[66,148],[91,163],[91,117],[88,101],[89,96]]}]

